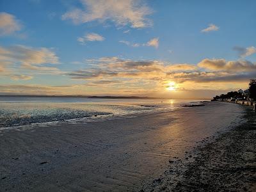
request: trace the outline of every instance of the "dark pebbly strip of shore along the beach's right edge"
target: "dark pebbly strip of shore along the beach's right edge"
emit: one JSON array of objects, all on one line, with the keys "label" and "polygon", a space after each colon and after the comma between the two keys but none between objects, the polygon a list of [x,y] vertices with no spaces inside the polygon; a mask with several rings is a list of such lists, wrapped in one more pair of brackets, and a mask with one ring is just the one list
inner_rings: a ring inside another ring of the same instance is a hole
[{"label": "dark pebbly strip of shore along the beach's right edge", "polygon": [[141,191],[256,191],[256,114],[244,108],[246,122],[170,162]]}]

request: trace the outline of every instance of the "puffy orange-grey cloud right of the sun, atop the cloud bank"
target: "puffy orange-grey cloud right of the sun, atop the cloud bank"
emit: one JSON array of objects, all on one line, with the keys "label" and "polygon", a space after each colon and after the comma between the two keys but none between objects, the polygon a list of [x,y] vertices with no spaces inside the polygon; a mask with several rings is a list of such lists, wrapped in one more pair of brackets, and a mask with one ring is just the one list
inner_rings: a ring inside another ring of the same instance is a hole
[{"label": "puffy orange-grey cloud right of the sun, atop the cloud bank", "polygon": [[220,60],[209,60],[205,59],[198,63],[198,67],[205,68],[207,70],[216,71],[228,71],[228,72],[250,72],[256,70],[256,63],[250,61],[226,61]]}]

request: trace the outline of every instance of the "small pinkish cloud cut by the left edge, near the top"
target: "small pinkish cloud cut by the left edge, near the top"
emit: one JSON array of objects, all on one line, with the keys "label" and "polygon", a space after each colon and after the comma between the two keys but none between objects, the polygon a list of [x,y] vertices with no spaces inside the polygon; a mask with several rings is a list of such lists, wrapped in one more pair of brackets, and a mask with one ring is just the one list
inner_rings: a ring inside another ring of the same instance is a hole
[{"label": "small pinkish cloud cut by the left edge, near the top", "polygon": [[15,16],[0,12],[0,36],[12,35],[15,31],[20,31],[21,27]]}]

